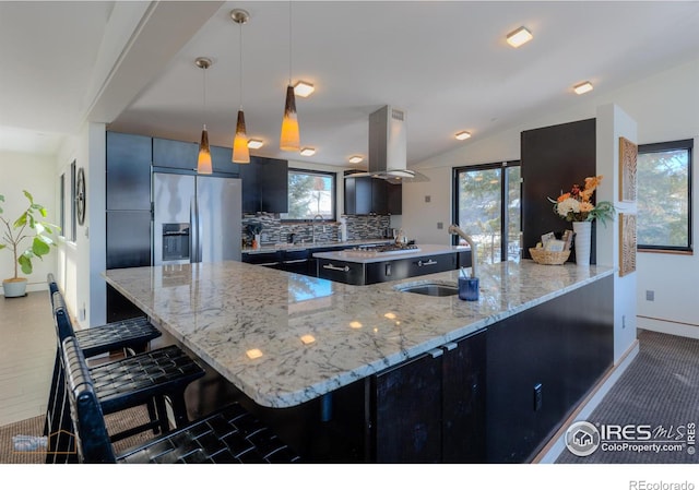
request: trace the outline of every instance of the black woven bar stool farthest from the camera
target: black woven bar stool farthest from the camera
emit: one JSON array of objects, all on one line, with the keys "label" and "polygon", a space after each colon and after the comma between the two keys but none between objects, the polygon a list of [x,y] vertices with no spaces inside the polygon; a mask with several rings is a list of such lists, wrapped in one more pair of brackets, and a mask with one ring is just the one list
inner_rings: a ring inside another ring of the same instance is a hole
[{"label": "black woven bar stool farthest from the camera", "polygon": [[[54,278],[54,274],[47,275],[49,299],[51,301],[51,310],[54,309],[54,294],[59,292],[58,284]],[[123,350],[125,354],[139,354],[147,350],[151,340],[163,335],[145,316],[123,320],[120,322],[107,323],[87,330],[75,332],[75,338],[80,340],[81,347],[84,349],[86,358],[99,356],[103,354]],[[51,377],[51,387],[47,404],[47,418],[44,422],[44,435],[49,435],[49,420],[52,414],[58,409],[56,407],[56,391],[62,386],[63,381],[60,377],[60,356],[58,348],[56,350],[56,360],[54,361],[54,374]],[[156,418],[155,406],[149,403],[149,415],[151,419]]]}]

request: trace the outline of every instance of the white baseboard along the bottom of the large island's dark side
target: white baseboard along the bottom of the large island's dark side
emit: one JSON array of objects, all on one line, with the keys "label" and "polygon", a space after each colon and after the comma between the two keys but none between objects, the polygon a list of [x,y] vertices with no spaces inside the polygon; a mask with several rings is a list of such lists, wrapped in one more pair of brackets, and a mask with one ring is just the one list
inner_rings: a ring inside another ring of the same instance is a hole
[{"label": "white baseboard along the bottom of the large island's dark side", "polygon": [[612,386],[617,382],[619,377],[630,366],[631,361],[636,359],[639,352],[638,338],[629,346],[624,352],[619,361],[612,366],[604,373],[602,379],[594,385],[588,396],[585,396],[572,414],[564,421],[560,429],[550,438],[548,443],[544,445],[542,451],[532,459],[532,464],[553,464],[556,463],[558,456],[566,449],[566,430],[576,420],[585,420],[592,411],[600,405],[602,398],[612,390]]}]

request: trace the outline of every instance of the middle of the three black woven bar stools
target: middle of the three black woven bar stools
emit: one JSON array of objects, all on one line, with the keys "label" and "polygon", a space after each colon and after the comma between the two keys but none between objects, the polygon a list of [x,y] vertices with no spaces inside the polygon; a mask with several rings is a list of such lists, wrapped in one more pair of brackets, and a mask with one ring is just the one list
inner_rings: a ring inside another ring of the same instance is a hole
[{"label": "middle of the three black woven bar stools", "polygon": [[[54,321],[57,339],[74,337],[73,326],[68,315],[60,291],[54,294]],[[81,350],[85,357],[85,351]],[[94,380],[94,390],[105,414],[121,411],[140,405],[153,404],[155,409],[147,423],[112,434],[111,442],[131,437],[145,430],[166,432],[170,429],[166,398],[170,401],[175,426],[188,422],[185,405],[185,390],[194,380],[204,375],[204,370],[177,346],[163,347],[137,354],[116,361],[109,361],[88,368]],[[64,390],[64,370],[60,369],[50,410],[47,410],[49,451],[47,462],[52,463],[60,454],[71,454],[73,438],[70,433],[70,414]],[[70,461],[68,457],[68,461]]]}]

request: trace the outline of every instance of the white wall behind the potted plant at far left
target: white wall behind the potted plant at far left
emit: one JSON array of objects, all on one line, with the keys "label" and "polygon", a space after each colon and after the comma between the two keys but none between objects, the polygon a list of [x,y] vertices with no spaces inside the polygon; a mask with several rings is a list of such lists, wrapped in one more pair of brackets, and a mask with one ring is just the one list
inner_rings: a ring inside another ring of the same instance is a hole
[{"label": "white wall behind the potted plant at far left", "polygon": [[[46,206],[49,223],[58,224],[59,211],[55,206],[56,202],[56,172],[52,156],[0,152],[0,194],[4,195],[4,203],[0,206],[4,210],[2,216],[14,220],[28,205],[23,190],[28,191],[34,201]],[[1,230],[0,230],[1,232]],[[58,238],[54,236],[54,238]],[[57,240],[57,243],[59,241]],[[25,240],[22,243],[25,248],[32,242]],[[34,260],[34,272],[27,277],[27,291],[46,289],[46,275],[50,272],[56,274],[58,260],[58,249],[44,256],[44,260]],[[20,276],[25,277],[22,271]],[[14,262],[12,252],[8,249],[0,251],[0,278],[5,279],[14,275]],[[48,299],[47,299],[48,301]],[[48,303],[47,303],[48,304]]]}]

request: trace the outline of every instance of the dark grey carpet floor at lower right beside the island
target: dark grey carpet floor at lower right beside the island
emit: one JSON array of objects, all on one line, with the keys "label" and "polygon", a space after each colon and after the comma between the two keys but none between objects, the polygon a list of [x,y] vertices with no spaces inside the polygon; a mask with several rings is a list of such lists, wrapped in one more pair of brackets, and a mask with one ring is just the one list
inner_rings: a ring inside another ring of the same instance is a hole
[{"label": "dark grey carpet floor at lower right beside the island", "polygon": [[556,463],[699,463],[699,339],[651,331],[638,338],[638,356],[587,420],[601,435],[597,449],[587,456],[566,449]]}]

